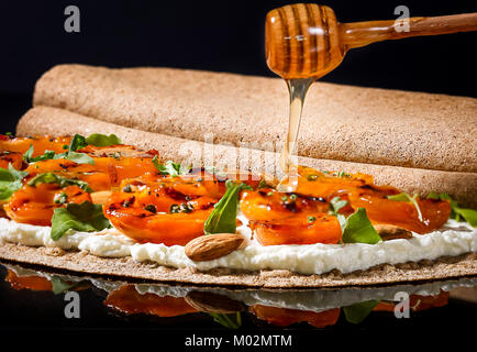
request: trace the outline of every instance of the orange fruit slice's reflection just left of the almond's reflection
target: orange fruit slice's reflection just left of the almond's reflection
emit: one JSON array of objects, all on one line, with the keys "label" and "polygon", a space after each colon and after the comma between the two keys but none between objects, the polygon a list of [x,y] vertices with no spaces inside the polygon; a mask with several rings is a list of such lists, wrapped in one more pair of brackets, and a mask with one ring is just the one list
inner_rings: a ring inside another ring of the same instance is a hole
[{"label": "orange fruit slice's reflection just left of the almond's reflection", "polygon": [[125,314],[144,312],[158,317],[176,317],[197,312],[184,298],[159,297],[154,294],[141,295],[134,285],[124,285],[110,293],[104,305]]}]

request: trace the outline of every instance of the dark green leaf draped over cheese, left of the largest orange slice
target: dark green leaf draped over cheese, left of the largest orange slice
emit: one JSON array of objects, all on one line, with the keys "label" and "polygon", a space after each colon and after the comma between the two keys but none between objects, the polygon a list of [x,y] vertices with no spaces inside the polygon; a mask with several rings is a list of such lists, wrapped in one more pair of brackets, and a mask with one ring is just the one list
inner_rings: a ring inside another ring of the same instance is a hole
[{"label": "dark green leaf draped over cheese, left of the largest orange slice", "polygon": [[101,205],[84,201],[70,202],[66,208],[56,208],[52,218],[52,240],[58,241],[68,230],[93,232],[111,227],[102,213]]}]

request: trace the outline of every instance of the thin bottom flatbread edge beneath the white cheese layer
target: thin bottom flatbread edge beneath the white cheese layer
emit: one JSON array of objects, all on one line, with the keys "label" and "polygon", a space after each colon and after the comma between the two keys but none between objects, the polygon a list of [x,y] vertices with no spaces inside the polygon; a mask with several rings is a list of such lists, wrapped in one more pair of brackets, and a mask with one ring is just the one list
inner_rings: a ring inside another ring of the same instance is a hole
[{"label": "thin bottom flatbread edge beneath the white cheese layer", "polygon": [[245,272],[218,268],[199,272],[192,267],[173,268],[153,262],[137,263],[131,256],[107,258],[86,252],[45,246],[33,248],[7,242],[0,243],[0,258],[76,273],[154,282],[265,288],[339,288],[477,276],[477,253],[445,256],[435,261],[424,260],[419,263],[382,264],[350,274],[332,271],[321,275],[300,275],[286,270]]}]

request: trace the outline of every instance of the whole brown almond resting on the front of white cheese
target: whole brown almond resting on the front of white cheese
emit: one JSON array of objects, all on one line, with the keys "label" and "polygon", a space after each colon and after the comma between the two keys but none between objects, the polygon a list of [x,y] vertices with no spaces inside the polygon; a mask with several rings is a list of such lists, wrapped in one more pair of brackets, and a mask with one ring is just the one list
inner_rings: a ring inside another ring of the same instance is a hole
[{"label": "whole brown almond resting on the front of white cheese", "polygon": [[239,249],[243,240],[235,233],[204,234],[187,243],[185,253],[196,262],[212,261]]}]

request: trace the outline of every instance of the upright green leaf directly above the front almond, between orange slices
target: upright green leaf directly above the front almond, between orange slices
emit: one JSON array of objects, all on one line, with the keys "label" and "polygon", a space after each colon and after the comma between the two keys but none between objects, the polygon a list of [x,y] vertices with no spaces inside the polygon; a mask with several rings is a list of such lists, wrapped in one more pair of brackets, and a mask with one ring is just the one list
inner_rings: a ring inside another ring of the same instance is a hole
[{"label": "upright green leaf directly above the front almond, between orange slices", "polygon": [[225,194],[215,204],[203,224],[203,232],[206,234],[235,233],[239,194],[242,189],[252,189],[252,187],[246,184],[234,184],[231,179],[225,182]]}]

